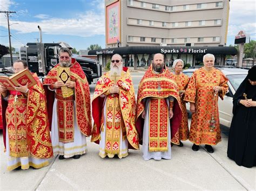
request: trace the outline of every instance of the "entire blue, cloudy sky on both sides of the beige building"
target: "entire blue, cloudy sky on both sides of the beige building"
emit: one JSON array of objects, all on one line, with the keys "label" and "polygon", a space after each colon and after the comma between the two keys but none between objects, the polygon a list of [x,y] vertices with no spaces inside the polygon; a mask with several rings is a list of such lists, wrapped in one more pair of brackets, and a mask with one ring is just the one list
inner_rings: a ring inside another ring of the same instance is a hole
[{"label": "entire blue, cloudy sky on both sides of the beige building", "polygon": [[[104,0],[0,0],[0,11],[16,11],[9,17],[12,47],[37,42],[39,25],[43,43],[64,41],[77,50],[91,44],[105,48]],[[230,1],[227,46],[240,30],[256,39],[255,0]],[[0,44],[9,46],[5,13],[0,13]]]}]

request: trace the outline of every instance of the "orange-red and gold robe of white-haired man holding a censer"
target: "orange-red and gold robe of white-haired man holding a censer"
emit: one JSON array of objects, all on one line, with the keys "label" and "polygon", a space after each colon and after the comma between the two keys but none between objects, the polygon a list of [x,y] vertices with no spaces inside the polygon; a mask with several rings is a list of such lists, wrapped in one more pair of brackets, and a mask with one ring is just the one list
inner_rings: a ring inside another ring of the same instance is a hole
[{"label": "orange-red and gold robe of white-haired man holding a censer", "polygon": [[[228,90],[226,76],[220,70],[213,68],[210,71],[203,67],[196,70],[188,83],[184,101],[195,103],[196,111],[192,115],[190,125],[190,141],[196,145],[216,145],[221,141],[218,96],[223,100]],[[220,86],[222,91],[214,96],[213,87]],[[212,115],[216,125],[210,131]]]}]

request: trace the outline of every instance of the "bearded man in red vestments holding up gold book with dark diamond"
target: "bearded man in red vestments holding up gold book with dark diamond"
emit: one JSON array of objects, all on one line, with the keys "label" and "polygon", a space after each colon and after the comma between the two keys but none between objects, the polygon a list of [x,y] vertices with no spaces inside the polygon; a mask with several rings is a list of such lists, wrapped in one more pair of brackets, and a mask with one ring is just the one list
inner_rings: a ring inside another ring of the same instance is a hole
[{"label": "bearded man in red vestments holding up gold book with dark diamond", "polygon": [[[79,159],[91,135],[90,89],[79,63],[68,48],[59,49],[59,63],[46,76],[53,152],[59,159]],[[53,105],[53,106],[52,106]]]}]

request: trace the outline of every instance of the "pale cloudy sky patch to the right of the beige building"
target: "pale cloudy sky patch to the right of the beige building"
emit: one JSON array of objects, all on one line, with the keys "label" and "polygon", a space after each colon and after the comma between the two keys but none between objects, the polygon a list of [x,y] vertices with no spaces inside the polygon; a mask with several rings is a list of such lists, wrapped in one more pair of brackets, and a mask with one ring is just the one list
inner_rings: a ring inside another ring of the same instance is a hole
[{"label": "pale cloudy sky patch to the right of the beige building", "polygon": [[255,0],[230,1],[230,18],[228,22],[228,37],[234,37],[240,30],[256,35],[256,2]]}]

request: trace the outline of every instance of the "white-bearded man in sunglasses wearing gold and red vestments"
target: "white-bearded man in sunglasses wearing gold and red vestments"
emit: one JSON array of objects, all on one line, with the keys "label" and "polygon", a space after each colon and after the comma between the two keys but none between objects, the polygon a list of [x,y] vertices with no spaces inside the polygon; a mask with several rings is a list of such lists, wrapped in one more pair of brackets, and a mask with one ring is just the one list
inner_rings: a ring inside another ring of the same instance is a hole
[{"label": "white-bearded man in sunglasses wearing gold and red vestments", "polygon": [[100,157],[123,158],[128,155],[128,148],[139,149],[135,112],[129,69],[123,67],[122,56],[114,54],[110,71],[98,80],[92,100],[91,142],[99,144]]}]

